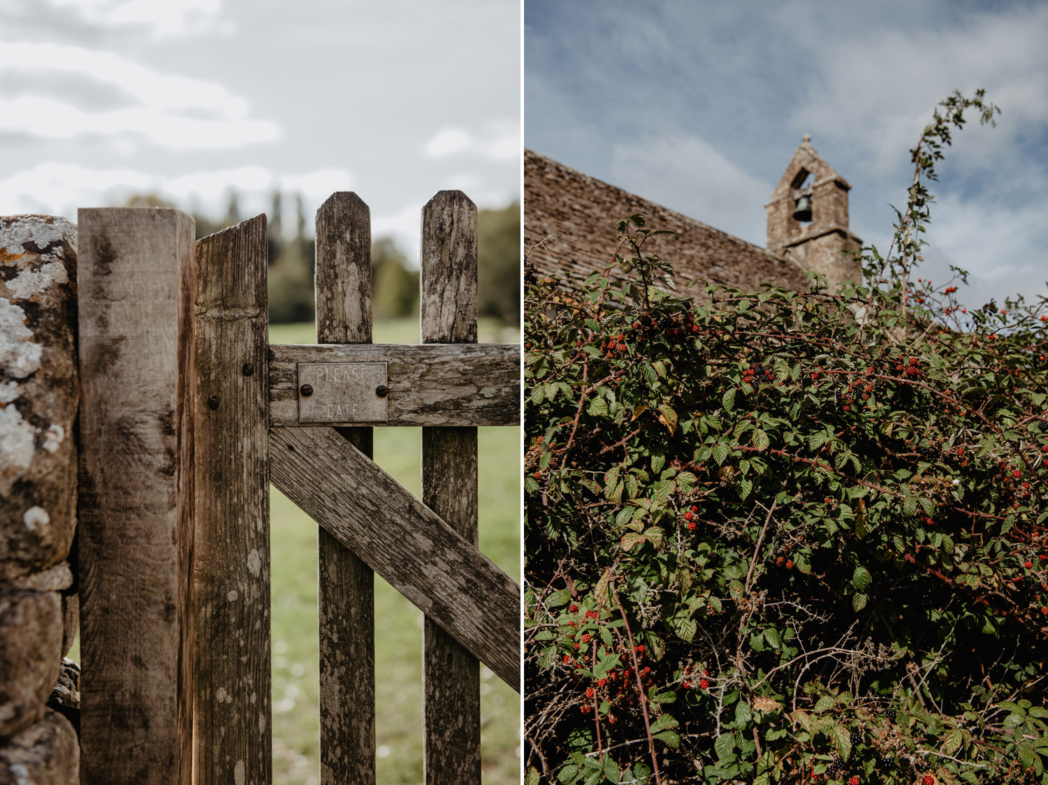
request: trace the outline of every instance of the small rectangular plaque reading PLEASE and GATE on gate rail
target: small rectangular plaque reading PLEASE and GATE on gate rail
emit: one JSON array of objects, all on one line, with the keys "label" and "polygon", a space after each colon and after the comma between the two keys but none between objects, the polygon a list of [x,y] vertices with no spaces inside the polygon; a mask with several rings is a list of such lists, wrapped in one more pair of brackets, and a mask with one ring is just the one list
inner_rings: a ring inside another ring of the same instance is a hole
[{"label": "small rectangular plaque reading PLEASE and GATE on gate rail", "polygon": [[389,419],[386,363],[299,363],[299,422]]}]

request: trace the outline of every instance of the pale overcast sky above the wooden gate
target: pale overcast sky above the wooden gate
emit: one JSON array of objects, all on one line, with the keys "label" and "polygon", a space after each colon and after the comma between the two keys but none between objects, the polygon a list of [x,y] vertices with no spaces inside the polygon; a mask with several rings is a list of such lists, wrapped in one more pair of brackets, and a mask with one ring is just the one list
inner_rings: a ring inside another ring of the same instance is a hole
[{"label": "pale overcast sky above the wooden gate", "polygon": [[0,215],[352,190],[417,258],[437,191],[520,195],[518,0],[0,0]]}]

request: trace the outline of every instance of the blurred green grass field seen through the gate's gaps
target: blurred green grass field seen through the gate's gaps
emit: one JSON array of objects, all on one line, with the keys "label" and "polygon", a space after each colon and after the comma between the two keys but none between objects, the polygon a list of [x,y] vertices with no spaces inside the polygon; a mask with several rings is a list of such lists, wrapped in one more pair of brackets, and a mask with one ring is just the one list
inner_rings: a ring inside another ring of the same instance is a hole
[{"label": "blurred green grass field seen through the gate's gaps", "polygon": [[[417,343],[418,321],[379,321],[375,343]],[[311,324],[274,325],[274,344],[311,344]],[[482,323],[480,340],[516,343],[520,333]],[[521,573],[520,429],[479,434],[480,548],[518,582]],[[421,430],[376,428],[375,462],[419,494]],[[270,488],[272,757],[277,785],[319,783],[316,525]],[[422,614],[375,576],[377,781],[422,782]],[[70,656],[79,660],[79,650]],[[454,711],[453,706],[449,711]],[[481,667],[481,754],[485,785],[520,782],[521,701]]]}]

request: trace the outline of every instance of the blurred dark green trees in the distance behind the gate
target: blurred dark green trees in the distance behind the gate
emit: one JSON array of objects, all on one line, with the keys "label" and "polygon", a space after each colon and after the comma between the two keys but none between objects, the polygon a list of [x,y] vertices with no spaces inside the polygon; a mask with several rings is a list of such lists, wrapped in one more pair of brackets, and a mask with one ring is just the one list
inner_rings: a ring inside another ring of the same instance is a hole
[{"label": "blurred dark green trees in the distance behind the gate", "polygon": [[[313,321],[313,267],[315,241],[312,221],[307,221],[302,195],[294,199],[294,234],[283,226],[285,195],[274,191],[266,211],[269,227],[269,321],[271,323]],[[127,206],[174,208],[156,194],[136,194]],[[230,193],[225,215],[214,220],[196,219],[197,239],[232,226],[246,216],[240,213],[236,191]],[[520,203],[502,210],[481,210],[477,214],[480,315],[520,323],[521,238]],[[418,313],[418,267],[391,237],[371,243],[371,307],[375,319],[410,317]]]}]

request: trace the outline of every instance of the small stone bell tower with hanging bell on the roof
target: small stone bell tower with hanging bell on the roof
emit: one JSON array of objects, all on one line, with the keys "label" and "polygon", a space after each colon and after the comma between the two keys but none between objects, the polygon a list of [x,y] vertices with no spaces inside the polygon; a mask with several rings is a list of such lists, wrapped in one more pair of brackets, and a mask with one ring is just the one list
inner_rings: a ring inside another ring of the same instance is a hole
[{"label": "small stone bell tower with hanging bell on the roof", "polygon": [[842,281],[861,283],[856,258],[861,241],[848,230],[848,180],[818,157],[804,135],[786,167],[771,200],[768,215],[768,250],[802,269],[826,276],[829,291]]}]

